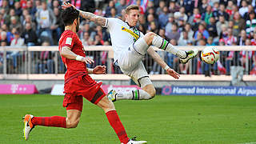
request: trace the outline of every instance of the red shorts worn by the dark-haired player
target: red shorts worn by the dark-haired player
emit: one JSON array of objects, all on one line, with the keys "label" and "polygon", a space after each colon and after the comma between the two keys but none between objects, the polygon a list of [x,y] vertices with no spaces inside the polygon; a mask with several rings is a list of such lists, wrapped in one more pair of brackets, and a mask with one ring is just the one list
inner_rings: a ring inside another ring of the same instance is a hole
[{"label": "red shorts worn by the dark-haired player", "polygon": [[101,85],[102,83],[95,82],[88,74],[73,78],[65,83],[63,107],[66,110],[82,111],[82,97],[96,105],[106,95]]}]

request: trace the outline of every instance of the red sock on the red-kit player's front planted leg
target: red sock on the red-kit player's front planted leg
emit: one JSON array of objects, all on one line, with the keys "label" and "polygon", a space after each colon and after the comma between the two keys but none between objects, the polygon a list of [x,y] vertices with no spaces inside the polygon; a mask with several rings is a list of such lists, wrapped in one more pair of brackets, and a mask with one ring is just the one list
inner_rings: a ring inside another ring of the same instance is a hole
[{"label": "red sock on the red-kit player's front planted leg", "polygon": [[113,127],[115,133],[118,135],[120,142],[127,143],[129,138],[126,134],[125,128],[122,126],[122,122],[118,117],[117,111],[111,110],[107,112],[106,117],[108,118],[110,125]]}]

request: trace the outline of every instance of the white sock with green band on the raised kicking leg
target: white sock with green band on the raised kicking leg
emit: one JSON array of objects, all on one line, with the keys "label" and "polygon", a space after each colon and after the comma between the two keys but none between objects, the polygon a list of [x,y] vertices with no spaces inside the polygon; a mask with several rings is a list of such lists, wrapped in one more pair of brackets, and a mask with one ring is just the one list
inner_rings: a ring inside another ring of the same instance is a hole
[{"label": "white sock with green band on the raised kicking leg", "polygon": [[171,45],[168,41],[164,38],[160,37],[159,35],[154,36],[152,45],[157,46],[159,49],[166,50],[179,58],[186,58],[186,52],[183,50],[176,49],[173,45]]}]

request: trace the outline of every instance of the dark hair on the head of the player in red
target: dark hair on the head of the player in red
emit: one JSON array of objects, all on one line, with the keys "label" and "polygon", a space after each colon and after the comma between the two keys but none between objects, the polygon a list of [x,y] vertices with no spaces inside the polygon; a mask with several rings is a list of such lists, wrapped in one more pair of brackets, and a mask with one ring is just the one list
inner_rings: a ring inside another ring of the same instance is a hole
[{"label": "dark hair on the head of the player in red", "polygon": [[76,18],[79,17],[79,11],[75,10],[74,7],[67,7],[65,10],[62,10],[62,21],[65,26],[70,26]]}]

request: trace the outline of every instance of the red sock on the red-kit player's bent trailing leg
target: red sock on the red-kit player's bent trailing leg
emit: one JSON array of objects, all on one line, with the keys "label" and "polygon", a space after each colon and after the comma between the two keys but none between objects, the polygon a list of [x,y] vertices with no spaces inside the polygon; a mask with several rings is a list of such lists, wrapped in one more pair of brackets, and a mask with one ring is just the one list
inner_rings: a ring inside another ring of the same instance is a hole
[{"label": "red sock on the red-kit player's bent trailing leg", "polygon": [[34,126],[54,126],[66,128],[66,118],[60,116],[53,117],[34,117],[32,118]]}]

